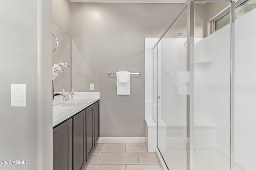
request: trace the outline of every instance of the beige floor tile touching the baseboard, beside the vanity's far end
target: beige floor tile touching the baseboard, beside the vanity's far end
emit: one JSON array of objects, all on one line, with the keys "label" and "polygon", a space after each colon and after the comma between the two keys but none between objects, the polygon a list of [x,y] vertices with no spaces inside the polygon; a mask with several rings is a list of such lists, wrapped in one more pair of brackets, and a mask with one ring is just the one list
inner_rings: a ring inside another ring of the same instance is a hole
[{"label": "beige floor tile touching the baseboard, beside the vanity's far end", "polygon": [[94,152],[125,152],[125,143],[98,143]]}]

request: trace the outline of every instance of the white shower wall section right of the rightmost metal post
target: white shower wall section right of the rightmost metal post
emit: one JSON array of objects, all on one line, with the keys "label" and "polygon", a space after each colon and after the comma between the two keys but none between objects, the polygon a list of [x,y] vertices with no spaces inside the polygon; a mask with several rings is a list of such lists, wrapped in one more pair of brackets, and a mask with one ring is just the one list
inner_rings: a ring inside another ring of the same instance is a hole
[{"label": "white shower wall section right of the rightmost metal post", "polygon": [[255,170],[256,9],[235,25],[235,162]]}]

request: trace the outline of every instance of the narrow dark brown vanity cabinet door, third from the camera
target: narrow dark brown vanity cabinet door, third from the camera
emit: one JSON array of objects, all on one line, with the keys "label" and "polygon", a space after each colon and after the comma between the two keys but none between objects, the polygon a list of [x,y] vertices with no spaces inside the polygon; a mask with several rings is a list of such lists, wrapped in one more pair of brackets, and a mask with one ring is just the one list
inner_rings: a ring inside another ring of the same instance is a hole
[{"label": "narrow dark brown vanity cabinet door, third from the camera", "polygon": [[93,147],[93,118],[94,105],[86,108],[86,160],[88,160]]}]

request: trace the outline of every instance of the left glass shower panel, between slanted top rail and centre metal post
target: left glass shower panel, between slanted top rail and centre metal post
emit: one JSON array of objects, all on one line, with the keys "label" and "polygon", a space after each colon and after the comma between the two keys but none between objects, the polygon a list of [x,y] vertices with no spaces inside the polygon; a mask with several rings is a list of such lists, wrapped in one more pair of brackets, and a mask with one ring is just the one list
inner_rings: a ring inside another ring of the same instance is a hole
[{"label": "left glass shower panel, between slanted top rail and centre metal post", "polygon": [[[170,170],[187,170],[187,8],[155,48],[158,49],[158,149]],[[154,61],[156,62],[156,61]]]}]

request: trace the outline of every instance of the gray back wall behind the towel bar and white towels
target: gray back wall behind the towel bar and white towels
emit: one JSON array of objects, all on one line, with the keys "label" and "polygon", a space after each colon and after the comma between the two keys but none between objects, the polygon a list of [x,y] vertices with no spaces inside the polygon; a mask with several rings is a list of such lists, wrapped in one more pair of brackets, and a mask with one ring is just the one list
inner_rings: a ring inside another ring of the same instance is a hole
[{"label": "gray back wall behind the towel bar and white towels", "polygon": [[[160,37],[182,4],[71,3],[72,88],[100,92],[100,136],[144,137],[145,37]],[[131,77],[131,95],[116,94],[116,76]]]}]

